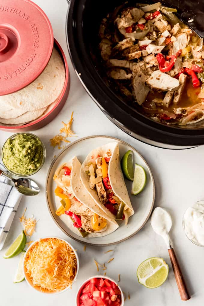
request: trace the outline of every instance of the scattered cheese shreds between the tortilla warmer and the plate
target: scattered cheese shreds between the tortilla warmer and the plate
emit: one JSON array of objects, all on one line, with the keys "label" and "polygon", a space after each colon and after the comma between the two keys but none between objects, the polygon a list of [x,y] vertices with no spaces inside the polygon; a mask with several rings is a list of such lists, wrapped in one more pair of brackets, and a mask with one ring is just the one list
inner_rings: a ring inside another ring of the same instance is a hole
[{"label": "scattered cheese shreds between the tortilla warmer and the plate", "polygon": [[[67,137],[71,137],[72,135],[74,135],[75,133],[71,130],[71,126],[72,126],[72,122],[74,120],[73,118],[73,113],[71,114],[71,118],[69,120],[69,122],[66,124],[64,121],[62,121],[64,127],[60,129],[59,134],[57,134],[56,136],[54,136],[53,138],[50,139],[50,145],[52,147],[55,147],[58,145],[58,149],[60,150],[62,147],[60,147],[60,144],[62,141],[69,143],[70,141],[67,140]],[[61,134],[65,133],[65,136],[62,136]],[[65,147],[65,146],[63,146]]]}]

